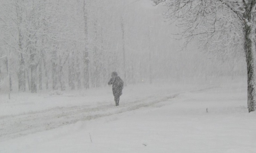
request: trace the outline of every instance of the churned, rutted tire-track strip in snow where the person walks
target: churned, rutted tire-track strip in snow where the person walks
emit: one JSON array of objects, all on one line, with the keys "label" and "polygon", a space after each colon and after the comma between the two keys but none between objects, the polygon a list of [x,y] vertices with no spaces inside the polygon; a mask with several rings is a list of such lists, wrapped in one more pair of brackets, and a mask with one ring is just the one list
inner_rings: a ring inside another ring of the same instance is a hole
[{"label": "churned, rutted tire-track strip in snow where the person walks", "polygon": [[[191,92],[211,89],[209,87]],[[163,101],[177,97],[180,93],[164,97],[148,96],[132,102],[123,102],[116,107],[113,102],[101,105],[82,105],[71,107],[55,107],[43,111],[34,111],[20,115],[2,116],[0,118],[0,141],[5,141],[20,136],[54,129],[63,125],[73,124],[78,121],[96,119],[113,114],[124,113],[154,106]]]}]

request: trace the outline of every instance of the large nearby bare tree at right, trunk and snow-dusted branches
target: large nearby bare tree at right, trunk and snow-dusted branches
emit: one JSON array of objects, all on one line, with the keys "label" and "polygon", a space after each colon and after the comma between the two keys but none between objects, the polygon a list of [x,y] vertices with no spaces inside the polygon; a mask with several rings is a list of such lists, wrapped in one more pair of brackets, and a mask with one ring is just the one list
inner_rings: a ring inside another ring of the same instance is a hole
[{"label": "large nearby bare tree at right, trunk and snow-dusted branches", "polygon": [[[197,38],[198,46],[219,55],[241,51],[247,63],[248,110],[255,111],[255,0],[153,0],[168,8],[165,17],[181,27],[177,34],[187,46]],[[243,44],[243,45],[242,45]],[[217,47],[216,47],[217,46]],[[238,48],[238,50],[236,49]]]}]

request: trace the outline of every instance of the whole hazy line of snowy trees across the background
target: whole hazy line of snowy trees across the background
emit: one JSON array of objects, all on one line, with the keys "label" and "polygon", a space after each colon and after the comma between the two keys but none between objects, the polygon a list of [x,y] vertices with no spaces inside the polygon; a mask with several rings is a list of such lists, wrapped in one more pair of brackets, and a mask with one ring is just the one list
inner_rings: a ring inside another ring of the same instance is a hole
[{"label": "whole hazy line of snowy trees across the background", "polygon": [[220,65],[236,71],[198,61],[197,54],[187,61],[169,39],[168,24],[133,12],[137,1],[125,2],[0,0],[0,88],[8,82],[20,92],[88,89],[107,85],[112,71],[125,84],[243,73],[231,58]]}]

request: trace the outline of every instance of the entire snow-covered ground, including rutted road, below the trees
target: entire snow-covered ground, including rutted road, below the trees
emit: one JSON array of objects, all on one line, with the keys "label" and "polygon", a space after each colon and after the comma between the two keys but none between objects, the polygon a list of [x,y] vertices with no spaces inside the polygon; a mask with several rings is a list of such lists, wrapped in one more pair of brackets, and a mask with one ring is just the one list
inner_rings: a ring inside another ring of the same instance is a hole
[{"label": "entire snow-covered ground, including rutted road, below the trees", "polygon": [[[0,153],[255,153],[246,81],[0,95]],[[207,111],[206,111],[207,109]]]}]

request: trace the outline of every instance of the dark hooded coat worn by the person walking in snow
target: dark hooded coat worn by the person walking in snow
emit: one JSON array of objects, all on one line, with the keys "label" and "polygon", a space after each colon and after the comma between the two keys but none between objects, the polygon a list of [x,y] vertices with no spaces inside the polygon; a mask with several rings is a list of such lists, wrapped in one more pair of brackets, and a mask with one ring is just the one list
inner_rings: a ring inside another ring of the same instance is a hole
[{"label": "dark hooded coat worn by the person walking in snow", "polygon": [[117,72],[112,72],[112,78],[108,81],[108,85],[112,84],[114,97],[121,96],[124,88],[123,80],[117,75]]}]

